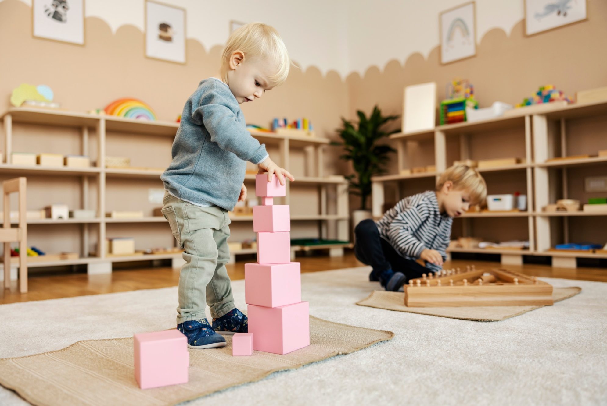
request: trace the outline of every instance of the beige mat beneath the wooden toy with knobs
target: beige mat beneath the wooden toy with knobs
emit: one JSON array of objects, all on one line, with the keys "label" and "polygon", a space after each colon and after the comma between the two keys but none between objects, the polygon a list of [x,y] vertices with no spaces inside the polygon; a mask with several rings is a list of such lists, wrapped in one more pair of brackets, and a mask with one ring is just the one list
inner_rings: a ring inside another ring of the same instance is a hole
[{"label": "beige mat beneath the wooden toy with knobs", "polygon": [[[579,287],[554,288],[552,299],[560,302],[577,295],[582,291]],[[452,319],[473,321],[500,321],[514,316],[520,316],[527,311],[544,306],[479,306],[479,307],[407,307],[404,304],[405,294],[402,292],[387,292],[374,290],[367,298],[356,304],[360,306],[383,308],[386,310],[407,311],[409,313],[429,314],[430,316],[448,317]]]}]

